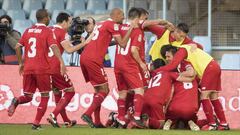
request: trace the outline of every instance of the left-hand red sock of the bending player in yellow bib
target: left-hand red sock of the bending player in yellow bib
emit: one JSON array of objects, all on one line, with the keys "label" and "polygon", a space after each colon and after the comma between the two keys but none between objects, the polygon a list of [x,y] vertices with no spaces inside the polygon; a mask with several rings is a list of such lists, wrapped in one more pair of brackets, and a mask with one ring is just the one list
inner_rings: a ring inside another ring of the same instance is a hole
[{"label": "left-hand red sock of the bending player in yellow bib", "polygon": [[215,123],[214,117],[213,117],[213,109],[212,105],[209,99],[203,99],[202,100],[202,106],[203,106],[203,111],[207,117],[207,120],[209,124]]}]

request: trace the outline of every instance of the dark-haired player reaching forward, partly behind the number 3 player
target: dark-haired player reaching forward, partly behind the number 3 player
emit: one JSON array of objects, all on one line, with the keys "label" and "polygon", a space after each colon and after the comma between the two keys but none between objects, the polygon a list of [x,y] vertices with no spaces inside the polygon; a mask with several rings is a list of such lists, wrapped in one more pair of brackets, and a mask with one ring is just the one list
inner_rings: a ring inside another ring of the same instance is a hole
[{"label": "dark-haired player reaching forward, partly behind the number 3 player", "polygon": [[[68,28],[71,25],[72,18],[67,13],[59,13],[56,22],[57,24],[50,27],[54,32],[57,40],[57,45],[62,54],[65,50],[68,53],[72,53],[84,47],[86,45],[85,41],[82,43],[73,46],[70,41],[70,36],[67,33]],[[72,97],[74,96],[74,87],[69,79],[68,75],[65,74],[64,76],[60,73],[60,63],[56,56],[49,53],[49,63],[51,65],[51,77],[52,77],[52,86],[57,90],[53,90],[56,108],[47,118],[48,122],[52,124],[53,127],[60,127],[57,123],[57,116],[60,113],[66,127],[72,127],[76,124],[76,120],[70,120],[67,117],[65,107],[71,101]],[[62,93],[64,95],[62,96]]]}]

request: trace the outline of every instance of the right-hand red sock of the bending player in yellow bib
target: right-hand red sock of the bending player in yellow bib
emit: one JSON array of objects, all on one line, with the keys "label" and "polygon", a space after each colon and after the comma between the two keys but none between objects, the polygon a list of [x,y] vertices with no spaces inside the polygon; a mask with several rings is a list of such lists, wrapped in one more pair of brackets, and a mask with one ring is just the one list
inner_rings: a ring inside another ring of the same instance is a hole
[{"label": "right-hand red sock of the bending player in yellow bib", "polygon": [[220,103],[219,99],[216,100],[211,100],[215,114],[217,115],[219,121],[221,124],[225,124],[227,123],[226,118],[225,118],[225,114],[223,111],[223,107],[222,104]]}]

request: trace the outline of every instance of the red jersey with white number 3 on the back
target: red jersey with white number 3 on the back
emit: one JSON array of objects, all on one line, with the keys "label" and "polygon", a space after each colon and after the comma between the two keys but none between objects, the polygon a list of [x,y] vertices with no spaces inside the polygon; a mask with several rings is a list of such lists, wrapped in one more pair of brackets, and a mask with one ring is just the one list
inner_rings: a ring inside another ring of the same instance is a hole
[{"label": "red jersey with white number 3 on the back", "polygon": [[24,74],[50,73],[48,52],[56,44],[53,32],[44,24],[36,24],[25,30],[19,44],[24,50]]}]

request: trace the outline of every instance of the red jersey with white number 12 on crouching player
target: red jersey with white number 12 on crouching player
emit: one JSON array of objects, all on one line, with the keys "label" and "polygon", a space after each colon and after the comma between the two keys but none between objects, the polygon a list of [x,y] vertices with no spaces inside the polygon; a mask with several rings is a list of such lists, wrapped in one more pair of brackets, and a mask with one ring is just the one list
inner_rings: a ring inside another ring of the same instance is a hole
[{"label": "red jersey with white number 12 on crouching player", "polygon": [[165,104],[170,99],[172,80],[176,80],[177,77],[177,73],[157,72],[149,81],[145,94],[151,93],[162,104]]}]

